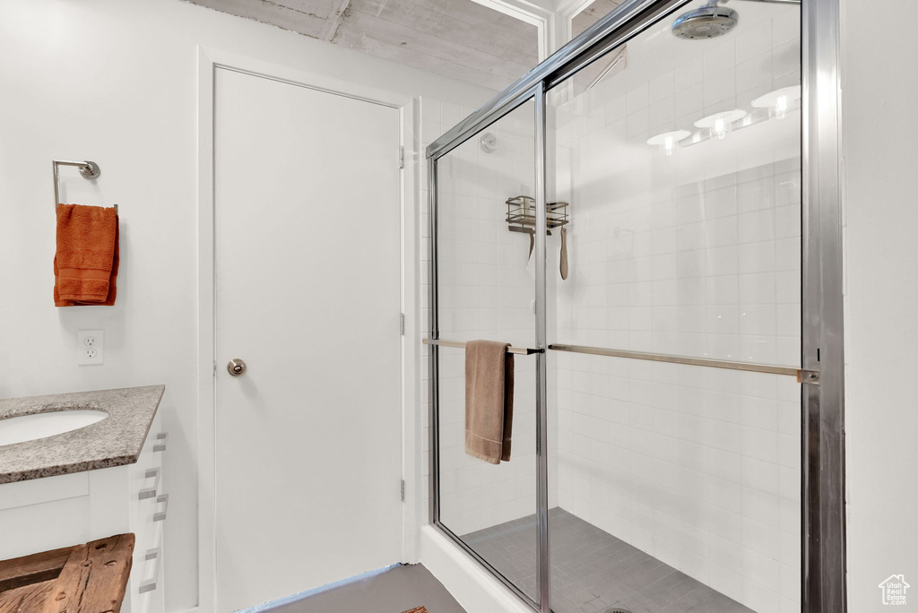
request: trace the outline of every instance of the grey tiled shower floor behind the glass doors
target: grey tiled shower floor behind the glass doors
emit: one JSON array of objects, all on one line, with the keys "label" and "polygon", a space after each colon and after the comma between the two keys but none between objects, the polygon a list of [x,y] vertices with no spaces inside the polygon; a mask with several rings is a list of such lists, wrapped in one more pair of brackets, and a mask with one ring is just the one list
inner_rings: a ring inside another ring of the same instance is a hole
[{"label": "grey tiled shower floor behind the glass doors", "polygon": [[[551,526],[552,610],[603,613],[753,613],[688,574],[613,537],[563,508]],[[466,534],[462,539],[527,594],[535,594],[535,516]]]}]

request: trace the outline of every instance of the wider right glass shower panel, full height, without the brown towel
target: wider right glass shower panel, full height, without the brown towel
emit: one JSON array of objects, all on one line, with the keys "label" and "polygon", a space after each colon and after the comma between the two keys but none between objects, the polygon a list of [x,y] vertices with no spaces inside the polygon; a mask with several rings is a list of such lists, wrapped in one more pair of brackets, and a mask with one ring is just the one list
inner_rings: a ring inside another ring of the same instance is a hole
[{"label": "wider right glass shower panel, full height, without the brown towel", "polygon": [[703,4],[548,92],[556,613],[800,611],[800,7]]}]

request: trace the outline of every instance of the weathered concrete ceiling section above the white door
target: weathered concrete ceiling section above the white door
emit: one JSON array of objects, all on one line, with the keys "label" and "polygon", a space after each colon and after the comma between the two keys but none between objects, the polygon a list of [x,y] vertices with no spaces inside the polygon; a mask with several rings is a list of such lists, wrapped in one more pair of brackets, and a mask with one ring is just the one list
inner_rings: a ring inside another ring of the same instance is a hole
[{"label": "weathered concrete ceiling section above the white door", "polygon": [[473,0],[188,1],[498,91],[539,62],[535,26]]}]

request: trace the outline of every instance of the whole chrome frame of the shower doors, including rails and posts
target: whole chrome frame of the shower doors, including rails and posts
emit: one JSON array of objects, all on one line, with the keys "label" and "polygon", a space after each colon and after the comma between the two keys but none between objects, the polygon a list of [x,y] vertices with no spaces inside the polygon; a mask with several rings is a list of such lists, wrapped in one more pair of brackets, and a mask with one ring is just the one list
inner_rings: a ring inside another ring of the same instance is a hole
[{"label": "whole chrome frame of the shower doors, including rails and posts", "polygon": [[[513,585],[440,520],[439,348],[430,344],[430,521],[539,613],[550,613],[545,279],[548,90],[632,39],[689,0],[626,0],[427,147],[430,206],[429,338],[440,338],[437,295],[437,161],[523,103],[535,101],[535,341],[537,593]],[[839,182],[838,0],[801,4],[801,611],[845,613],[845,446],[842,200]]]}]

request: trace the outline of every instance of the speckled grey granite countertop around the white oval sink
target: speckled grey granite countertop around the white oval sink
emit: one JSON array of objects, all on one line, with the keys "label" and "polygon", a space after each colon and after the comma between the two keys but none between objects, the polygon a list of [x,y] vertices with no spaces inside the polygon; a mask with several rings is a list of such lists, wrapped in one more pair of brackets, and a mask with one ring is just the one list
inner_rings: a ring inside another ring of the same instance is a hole
[{"label": "speckled grey granite countertop around the white oval sink", "polygon": [[165,385],[0,399],[0,419],[93,409],[108,417],[44,439],[0,445],[0,484],[137,462]]}]

